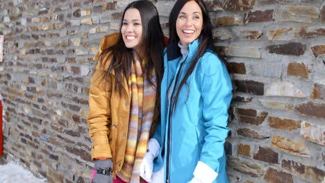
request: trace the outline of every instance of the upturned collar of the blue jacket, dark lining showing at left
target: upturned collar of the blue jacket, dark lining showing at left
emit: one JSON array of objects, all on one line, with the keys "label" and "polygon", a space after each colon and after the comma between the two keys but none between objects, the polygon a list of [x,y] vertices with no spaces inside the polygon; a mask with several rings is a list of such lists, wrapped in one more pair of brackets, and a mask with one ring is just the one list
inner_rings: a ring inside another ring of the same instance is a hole
[{"label": "upturned collar of the blue jacket, dark lining showing at left", "polygon": [[[188,55],[196,53],[199,47],[199,39],[194,40],[194,42],[188,45]],[[178,46],[178,43],[169,44],[167,46],[167,60],[175,60],[176,58],[181,57],[181,48]]]}]

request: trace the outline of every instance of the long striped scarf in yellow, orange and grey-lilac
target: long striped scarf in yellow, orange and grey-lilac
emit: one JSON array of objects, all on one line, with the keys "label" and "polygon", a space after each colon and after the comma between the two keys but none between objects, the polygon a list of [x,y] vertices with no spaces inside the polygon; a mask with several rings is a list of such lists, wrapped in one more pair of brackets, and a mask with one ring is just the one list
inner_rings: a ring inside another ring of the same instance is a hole
[{"label": "long striped scarf in yellow, orange and grey-lilac", "polygon": [[[140,182],[140,164],[147,150],[147,143],[153,111],[156,103],[156,89],[150,85],[145,69],[145,60],[140,59],[133,51],[131,77],[128,79],[128,90],[131,96],[130,119],[128,123],[128,139],[124,164],[117,176],[124,182]],[[156,75],[153,72],[151,82],[156,86]]]}]

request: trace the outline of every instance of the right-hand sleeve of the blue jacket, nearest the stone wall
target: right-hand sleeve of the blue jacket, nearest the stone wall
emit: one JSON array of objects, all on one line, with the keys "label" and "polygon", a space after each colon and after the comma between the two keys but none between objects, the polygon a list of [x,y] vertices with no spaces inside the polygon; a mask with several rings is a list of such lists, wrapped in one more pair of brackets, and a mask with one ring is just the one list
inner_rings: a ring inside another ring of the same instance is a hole
[{"label": "right-hand sleeve of the blue jacket, nearest the stone wall", "polygon": [[228,108],[232,98],[231,78],[217,55],[206,53],[200,62],[203,121],[206,130],[200,161],[219,172],[228,136]]}]

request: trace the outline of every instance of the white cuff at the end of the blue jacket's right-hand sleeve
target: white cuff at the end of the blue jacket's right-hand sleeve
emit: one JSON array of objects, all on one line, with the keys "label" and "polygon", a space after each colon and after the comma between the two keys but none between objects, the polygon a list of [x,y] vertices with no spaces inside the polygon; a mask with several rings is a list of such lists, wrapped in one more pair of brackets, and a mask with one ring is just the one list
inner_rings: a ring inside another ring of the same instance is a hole
[{"label": "white cuff at the end of the blue jacket's right-hand sleeve", "polygon": [[213,168],[210,168],[210,166],[207,164],[199,161],[197,162],[197,166],[194,169],[193,175],[201,182],[210,183],[213,182],[215,178],[217,178],[218,173],[216,173]]}]

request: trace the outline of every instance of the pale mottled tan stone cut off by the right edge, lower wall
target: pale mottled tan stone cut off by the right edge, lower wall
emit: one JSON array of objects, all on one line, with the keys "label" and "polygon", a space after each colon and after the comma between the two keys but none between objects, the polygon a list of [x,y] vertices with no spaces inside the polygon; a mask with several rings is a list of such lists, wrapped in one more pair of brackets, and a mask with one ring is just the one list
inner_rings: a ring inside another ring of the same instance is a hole
[{"label": "pale mottled tan stone cut off by the right edge, lower wall", "polygon": [[325,146],[325,125],[315,125],[303,121],[301,123],[300,137]]}]

